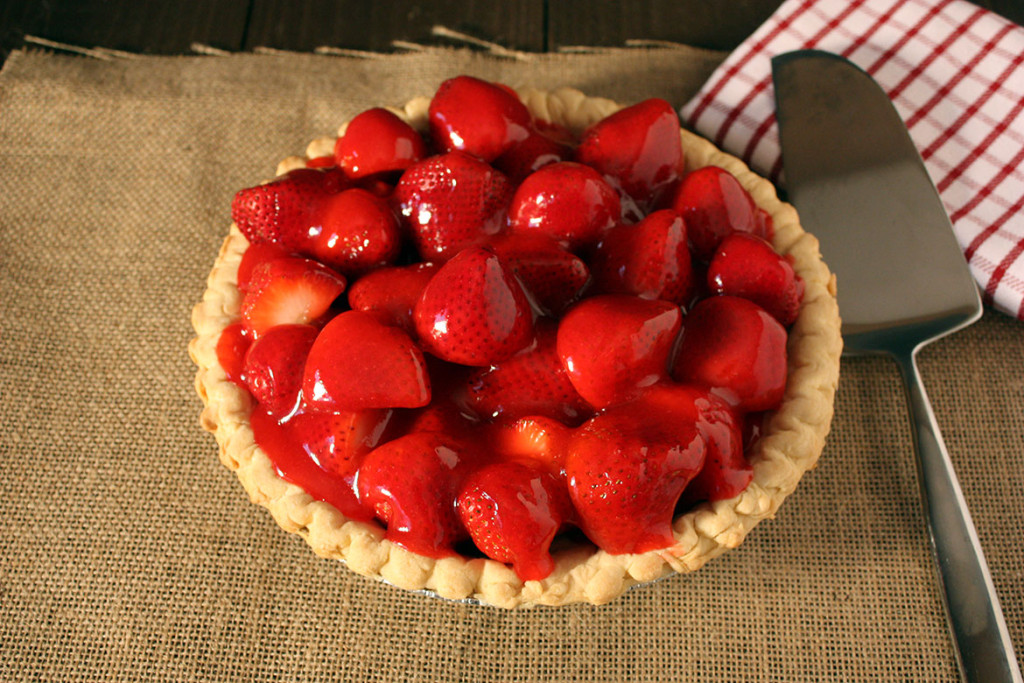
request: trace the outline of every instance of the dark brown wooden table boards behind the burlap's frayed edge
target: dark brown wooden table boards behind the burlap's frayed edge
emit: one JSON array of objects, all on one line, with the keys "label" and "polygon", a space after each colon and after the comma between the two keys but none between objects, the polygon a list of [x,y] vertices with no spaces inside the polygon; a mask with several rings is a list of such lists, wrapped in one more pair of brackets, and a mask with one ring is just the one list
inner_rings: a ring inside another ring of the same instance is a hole
[{"label": "dark brown wooden table boards behind the burlap's frayed edge", "polygon": [[[842,4],[843,0],[836,0]],[[436,26],[531,52],[667,40],[732,49],[781,0],[0,0],[0,58],[35,36],[79,47],[182,54],[202,44],[390,51],[444,44]],[[1024,25],[1024,0],[979,0]]]}]

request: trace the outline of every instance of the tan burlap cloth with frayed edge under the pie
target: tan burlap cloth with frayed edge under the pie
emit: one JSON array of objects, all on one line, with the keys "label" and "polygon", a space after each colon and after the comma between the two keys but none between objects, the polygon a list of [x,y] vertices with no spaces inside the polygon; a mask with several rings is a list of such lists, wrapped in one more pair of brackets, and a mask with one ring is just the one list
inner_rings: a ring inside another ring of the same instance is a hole
[{"label": "tan burlap cloth with frayed edge under the pie", "polygon": [[[322,560],[198,425],[189,310],[239,187],[471,73],[685,101],[721,57],[617,50],[100,61],[0,74],[0,679],[952,681],[896,370],[848,359],[819,468],[695,574],[506,612]],[[923,372],[1024,650],[1024,325]]]}]

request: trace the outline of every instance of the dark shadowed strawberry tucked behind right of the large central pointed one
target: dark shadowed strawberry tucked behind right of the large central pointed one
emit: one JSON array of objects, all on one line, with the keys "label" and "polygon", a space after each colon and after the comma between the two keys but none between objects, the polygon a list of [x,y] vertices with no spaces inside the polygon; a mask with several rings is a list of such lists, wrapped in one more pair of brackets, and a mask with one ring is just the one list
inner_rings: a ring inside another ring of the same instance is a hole
[{"label": "dark shadowed strawberry tucked behind right of the large central pointed one", "polygon": [[487,243],[542,313],[561,315],[590,284],[583,259],[546,234],[511,232]]}]

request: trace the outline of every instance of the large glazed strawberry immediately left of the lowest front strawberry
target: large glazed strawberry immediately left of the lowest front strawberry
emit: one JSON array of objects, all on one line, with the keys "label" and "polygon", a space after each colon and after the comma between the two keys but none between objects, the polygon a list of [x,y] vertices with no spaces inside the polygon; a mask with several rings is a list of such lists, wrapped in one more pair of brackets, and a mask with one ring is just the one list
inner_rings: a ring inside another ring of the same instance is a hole
[{"label": "large glazed strawberry immediately left of the lowest front strawberry", "polygon": [[356,478],[359,502],[387,526],[387,539],[430,557],[452,555],[466,537],[455,499],[480,454],[436,432],[377,447]]}]

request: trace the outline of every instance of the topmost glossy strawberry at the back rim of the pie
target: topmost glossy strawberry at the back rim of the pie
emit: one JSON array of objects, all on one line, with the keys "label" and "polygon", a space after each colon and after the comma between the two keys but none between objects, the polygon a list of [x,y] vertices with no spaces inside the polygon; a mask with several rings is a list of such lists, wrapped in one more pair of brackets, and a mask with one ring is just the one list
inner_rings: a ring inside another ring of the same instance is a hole
[{"label": "topmost glossy strawberry at the back rim of the pie", "polygon": [[485,162],[529,135],[529,110],[514,92],[471,76],[441,83],[428,111],[430,134],[443,151],[458,150]]}]

